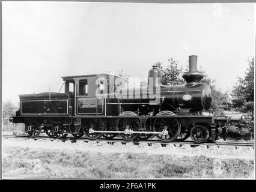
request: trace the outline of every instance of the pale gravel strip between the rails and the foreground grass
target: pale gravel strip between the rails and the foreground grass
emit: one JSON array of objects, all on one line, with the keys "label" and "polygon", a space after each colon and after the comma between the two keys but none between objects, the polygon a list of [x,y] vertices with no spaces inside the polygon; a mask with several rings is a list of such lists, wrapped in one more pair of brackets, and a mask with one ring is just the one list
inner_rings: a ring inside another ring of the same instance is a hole
[{"label": "pale gravel strip between the rails and the foreground grass", "polygon": [[190,145],[183,145],[181,147],[174,146],[173,144],[162,147],[159,143],[153,143],[148,146],[147,143],[140,143],[139,145],[133,145],[133,143],[127,143],[122,145],[121,143],[114,143],[110,145],[107,142],[83,142],[78,141],[72,143],[70,141],[62,142],[61,140],[30,140],[30,139],[2,139],[2,147],[5,146],[20,146],[25,148],[34,149],[59,149],[63,151],[86,151],[86,152],[102,152],[102,153],[147,153],[147,154],[164,154],[164,155],[183,155],[183,156],[197,156],[204,155],[212,158],[236,158],[236,159],[254,159],[254,148],[238,146],[197,146],[190,147]]}]

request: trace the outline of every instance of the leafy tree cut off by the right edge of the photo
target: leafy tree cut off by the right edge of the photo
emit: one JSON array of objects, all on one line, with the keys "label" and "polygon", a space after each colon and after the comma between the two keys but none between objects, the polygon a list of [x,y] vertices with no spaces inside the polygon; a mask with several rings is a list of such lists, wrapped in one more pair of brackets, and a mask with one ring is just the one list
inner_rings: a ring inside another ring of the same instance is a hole
[{"label": "leafy tree cut off by the right edge of the photo", "polygon": [[248,59],[245,77],[239,77],[232,91],[233,106],[243,113],[254,116],[254,58]]}]

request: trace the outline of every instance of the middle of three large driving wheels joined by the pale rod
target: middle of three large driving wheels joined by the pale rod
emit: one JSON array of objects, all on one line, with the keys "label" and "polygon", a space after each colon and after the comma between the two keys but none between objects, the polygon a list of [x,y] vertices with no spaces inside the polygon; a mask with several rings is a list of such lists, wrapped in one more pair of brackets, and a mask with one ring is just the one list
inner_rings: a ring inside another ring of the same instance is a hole
[{"label": "middle of three large driving wheels joined by the pale rod", "polygon": [[[120,118],[117,121],[117,130],[118,131],[124,131],[124,130],[133,130],[133,131],[138,131],[139,128],[141,127],[141,122],[139,121],[138,118]],[[139,134],[124,134],[121,133],[120,137],[123,140],[130,141],[133,139],[136,139]]]}]

